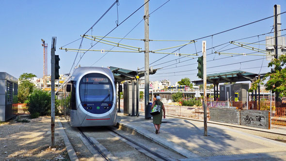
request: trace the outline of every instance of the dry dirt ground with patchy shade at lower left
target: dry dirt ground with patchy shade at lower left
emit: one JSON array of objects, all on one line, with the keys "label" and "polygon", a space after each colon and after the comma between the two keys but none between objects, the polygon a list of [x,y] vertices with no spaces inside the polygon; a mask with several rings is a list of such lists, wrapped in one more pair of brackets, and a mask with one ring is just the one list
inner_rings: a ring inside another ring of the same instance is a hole
[{"label": "dry dirt ground with patchy shade at lower left", "polygon": [[[69,161],[62,136],[55,133],[56,147],[50,148],[50,117],[20,116],[0,122],[0,161]],[[55,131],[59,126],[56,124]]]}]

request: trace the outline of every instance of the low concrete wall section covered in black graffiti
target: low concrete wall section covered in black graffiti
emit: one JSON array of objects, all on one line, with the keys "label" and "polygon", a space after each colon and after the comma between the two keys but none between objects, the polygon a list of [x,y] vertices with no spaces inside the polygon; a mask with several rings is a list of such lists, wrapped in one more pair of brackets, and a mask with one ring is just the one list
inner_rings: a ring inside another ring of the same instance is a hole
[{"label": "low concrete wall section covered in black graffiti", "polygon": [[269,111],[241,110],[240,125],[262,129],[270,129],[269,117]]}]

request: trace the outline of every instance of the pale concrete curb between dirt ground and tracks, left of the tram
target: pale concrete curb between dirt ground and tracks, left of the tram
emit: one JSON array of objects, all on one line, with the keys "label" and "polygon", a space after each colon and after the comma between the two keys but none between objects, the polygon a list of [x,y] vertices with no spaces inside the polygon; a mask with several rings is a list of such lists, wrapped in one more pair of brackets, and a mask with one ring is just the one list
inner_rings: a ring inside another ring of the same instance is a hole
[{"label": "pale concrete curb between dirt ground and tracks, left of the tram", "polygon": [[55,117],[55,119],[59,123],[60,134],[62,135],[62,137],[64,139],[64,145],[66,147],[66,151],[68,153],[69,159],[71,161],[79,161],[79,158],[78,158],[73,146],[69,142],[68,137],[67,137],[66,133],[64,132],[64,128],[63,128],[61,120],[59,119],[59,117]]}]

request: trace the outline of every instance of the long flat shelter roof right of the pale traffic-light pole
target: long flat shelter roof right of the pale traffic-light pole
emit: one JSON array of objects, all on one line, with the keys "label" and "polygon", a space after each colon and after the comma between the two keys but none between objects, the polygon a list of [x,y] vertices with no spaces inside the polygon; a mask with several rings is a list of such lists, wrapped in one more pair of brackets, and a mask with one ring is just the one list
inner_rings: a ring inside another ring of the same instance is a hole
[{"label": "long flat shelter roof right of the pale traffic-light pole", "polygon": [[[219,84],[226,82],[242,82],[242,81],[254,81],[259,75],[263,78],[266,73],[256,74],[245,71],[230,71],[223,73],[207,74],[207,84]],[[200,85],[203,84],[203,80],[192,81],[193,83]]]}]

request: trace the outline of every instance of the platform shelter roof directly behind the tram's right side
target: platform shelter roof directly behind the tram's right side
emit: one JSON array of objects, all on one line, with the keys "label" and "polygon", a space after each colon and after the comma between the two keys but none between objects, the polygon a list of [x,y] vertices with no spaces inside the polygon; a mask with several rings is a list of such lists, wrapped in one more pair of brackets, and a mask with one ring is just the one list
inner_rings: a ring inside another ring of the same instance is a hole
[{"label": "platform shelter roof directly behind the tram's right side", "polygon": [[[122,82],[127,80],[134,80],[136,76],[144,76],[144,71],[131,71],[128,69],[118,68],[118,67],[108,67],[113,73],[115,82]],[[153,69],[149,74],[155,74],[158,69]]]}]

